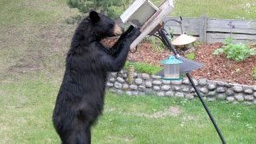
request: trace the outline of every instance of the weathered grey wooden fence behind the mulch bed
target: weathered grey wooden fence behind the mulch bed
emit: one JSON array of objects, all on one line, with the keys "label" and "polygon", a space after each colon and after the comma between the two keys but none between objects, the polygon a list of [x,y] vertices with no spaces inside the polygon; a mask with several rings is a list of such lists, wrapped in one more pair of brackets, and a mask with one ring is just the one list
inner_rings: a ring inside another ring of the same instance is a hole
[{"label": "weathered grey wooden fence behind the mulch bed", "polygon": [[[166,18],[165,28],[175,35],[181,34],[180,24],[170,19],[180,20],[179,17]],[[182,29],[184,33],[194,35],[205,43],[223,42],[232,36],[235,42],[256,44],[256,21],[213,19],[206,16],[182,18]]]}]

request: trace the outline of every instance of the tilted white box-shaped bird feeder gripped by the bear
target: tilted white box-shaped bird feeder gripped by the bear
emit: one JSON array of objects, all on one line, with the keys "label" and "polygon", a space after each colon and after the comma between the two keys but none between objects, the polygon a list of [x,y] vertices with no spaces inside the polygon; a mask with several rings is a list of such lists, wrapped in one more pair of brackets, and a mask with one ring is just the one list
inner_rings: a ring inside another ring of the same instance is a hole
[{"label": "tilted white box-shaped bird feeder gripped by the bear", "polygon": [[[162,28],[163,18],[168,16],[172,9],[173,1],[165,0],[159,8],[150,2],[150,0],[136,0],[131,6],[125,10],[120,16],[122,22],[131,22],[135,27],[138,27],[141,34],[131,43],[131,49],[135,48],[144,37],[152,32],[156,32],[158,28]],[[140,27],[142,26],[142,27]]]}]

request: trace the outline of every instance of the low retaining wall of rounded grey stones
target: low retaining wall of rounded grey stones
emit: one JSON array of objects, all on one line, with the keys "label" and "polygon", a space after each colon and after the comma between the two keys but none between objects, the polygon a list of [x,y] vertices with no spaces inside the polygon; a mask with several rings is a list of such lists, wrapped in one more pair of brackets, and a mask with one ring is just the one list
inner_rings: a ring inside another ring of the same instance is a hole
[{"label": "low retaining wall of rounded grey stones", "polygon": [[[193,99],[195,90],[189,84],[189,79],[166,81],[160,76],[146,73],[134,73],[134,83],[126,83],[125,71],[112,72],[107,81],[111,91],[126,93],[127,95],[156,94],[159,97],[185,97]],[[238,85],[213,81],[208,79],[193,79],[202,96],[208,101],[227,100],[232,103],[256,104],[256,85]]]}]

